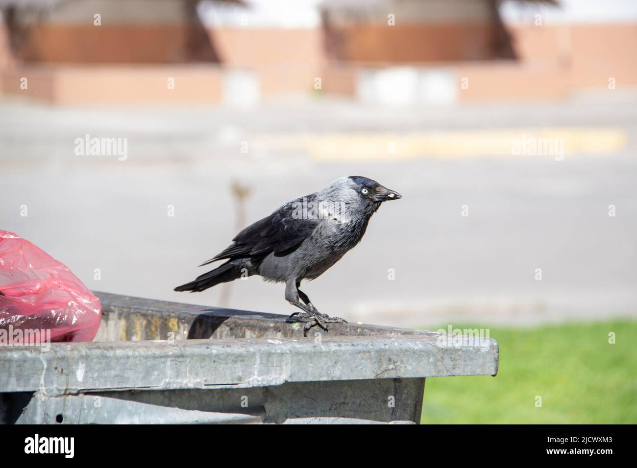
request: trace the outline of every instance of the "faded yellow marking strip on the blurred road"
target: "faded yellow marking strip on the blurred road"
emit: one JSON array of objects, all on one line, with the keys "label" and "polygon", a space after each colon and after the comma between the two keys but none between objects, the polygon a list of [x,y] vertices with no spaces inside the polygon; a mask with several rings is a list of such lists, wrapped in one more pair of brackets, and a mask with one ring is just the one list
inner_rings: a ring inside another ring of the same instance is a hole
[{"label": "faded yellow marking strip on the blurred road", "polygon": [[[579,153],[608,155],[626,148],[627,140],[627,132],[621,128],[550,127],[405,134],[269,134],[259,136],[257,143],[266,150],[304,150],[317,161],[350,162],[422,157],[552,156],[544,154],[540,148],[553,144],[555,148],[562,148],[567,158]],[[536,152],[533,152],[534,144]]]}]

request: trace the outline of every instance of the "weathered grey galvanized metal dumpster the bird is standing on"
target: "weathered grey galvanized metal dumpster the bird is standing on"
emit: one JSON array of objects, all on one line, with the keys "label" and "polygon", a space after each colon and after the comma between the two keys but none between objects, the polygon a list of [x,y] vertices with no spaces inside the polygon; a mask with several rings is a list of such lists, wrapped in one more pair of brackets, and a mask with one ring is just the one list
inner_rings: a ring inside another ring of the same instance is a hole
[{"label": "weathered grey galvanized metal dumpster the bird is standing on", "polygon": [[490,338],[96,294],[92,343],[0,346],[0,422],[419,423],[427,377],[497,372]]}]

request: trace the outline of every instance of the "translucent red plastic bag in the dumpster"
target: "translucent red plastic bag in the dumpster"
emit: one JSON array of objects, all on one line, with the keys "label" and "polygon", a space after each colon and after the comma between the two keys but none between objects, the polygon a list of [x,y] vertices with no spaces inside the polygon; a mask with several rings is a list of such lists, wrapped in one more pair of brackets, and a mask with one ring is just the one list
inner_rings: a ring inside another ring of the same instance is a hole
[{"label": "translucent red plastic bag in the dumpster", "polygon": [[99,299],[64,264],[0,229],[0,337],[23,344],[92,341],[100,318]]}]

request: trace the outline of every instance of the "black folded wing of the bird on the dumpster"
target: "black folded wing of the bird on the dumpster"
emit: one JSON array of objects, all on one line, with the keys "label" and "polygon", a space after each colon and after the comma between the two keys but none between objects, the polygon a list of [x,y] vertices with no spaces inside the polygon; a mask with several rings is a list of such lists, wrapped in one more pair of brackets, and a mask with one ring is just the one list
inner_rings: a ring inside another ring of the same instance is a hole
[{"label": "black folded wing of the bird on the dumpster", "polygon": [[[308,195],[305,200],[311,201],[310,197],[313,195]],[[283,257],[294,252],[320,223],[318,217],[304,216],[302,204],[302,198],[296,199],[249,225],[223,252],[201,266],[222,259],[261,259],[270,253]]]}]

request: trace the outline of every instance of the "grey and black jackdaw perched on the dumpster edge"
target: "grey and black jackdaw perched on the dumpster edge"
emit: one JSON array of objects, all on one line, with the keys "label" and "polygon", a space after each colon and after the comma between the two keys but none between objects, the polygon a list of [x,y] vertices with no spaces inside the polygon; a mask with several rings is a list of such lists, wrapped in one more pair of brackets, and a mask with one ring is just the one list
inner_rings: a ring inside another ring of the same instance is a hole
[{"label": "grey and black jackdaw perched on the dumpster edge", "polygon": [[200,267],[226,260],[223,264],[175,291],[201,292],[259,275],[265,281],[285,283],[285,300],[301,310],[290,319],[310,319],[303,327],[304,336],[315,325],[327,331],[327,323],[347,323],[320,313],[299,289],[301,281],[315,280],[325,273],[361,241],[369,219],[383,202],[401,198],[398,192],[366,177],[338,178],[241,230],[231,245]]}]

